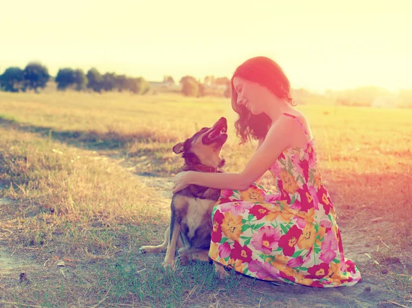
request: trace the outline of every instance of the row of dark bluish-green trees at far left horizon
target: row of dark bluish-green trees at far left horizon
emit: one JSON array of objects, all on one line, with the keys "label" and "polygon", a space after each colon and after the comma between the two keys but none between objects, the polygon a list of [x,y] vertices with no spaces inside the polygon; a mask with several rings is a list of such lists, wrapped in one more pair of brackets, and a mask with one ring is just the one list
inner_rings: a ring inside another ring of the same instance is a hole
[{"label": "row of dark bluish-green trees at far left horizon", "polygon": [[[24,69],[9,67],[0,75],[0,90],[8,92],[25,92],[34,90],[36,93],[45,88],[52,78],[45,65],[38,62],[30,62]],[[58,70],[54,80],[59,91],[71,88],[76,91],[130,91],[136,94],[146,94],[149,84],[144,78],[131,78],[115,73],[101,74],[97,69],[91,68],[85,74],[82,69],[69,67]]]}]

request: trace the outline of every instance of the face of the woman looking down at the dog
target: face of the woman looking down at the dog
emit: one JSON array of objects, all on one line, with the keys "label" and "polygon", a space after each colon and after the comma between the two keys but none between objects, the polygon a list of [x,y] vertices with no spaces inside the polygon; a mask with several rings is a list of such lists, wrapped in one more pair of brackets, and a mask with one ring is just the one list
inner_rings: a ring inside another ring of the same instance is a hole
[{"label": "face of the woman looking down at the dog", "polygon": [[264,112],[262,106],[264,91],[262,91],[263,87],[260,84],[235,77],[233,78],[233,86],[238,94],[238,104],[244,105],[252,115]]}]

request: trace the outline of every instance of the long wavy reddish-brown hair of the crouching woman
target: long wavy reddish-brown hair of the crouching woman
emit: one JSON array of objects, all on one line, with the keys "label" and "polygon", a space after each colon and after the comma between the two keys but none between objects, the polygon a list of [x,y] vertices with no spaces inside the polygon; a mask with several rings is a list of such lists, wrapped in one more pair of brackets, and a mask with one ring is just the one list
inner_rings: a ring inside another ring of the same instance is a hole
[{"label": "long wavy reddish-brown hair of the crouching woman", "polygon": [[284,99],[289,104],[295,106],[290,97],[290,82],[279,64],[270,58],[263,56],[250,58],[236,69],[231,78],[231,105],[239,117],[235,121],[236,135],[240,137],[239,144],[242,145],[251,139],[259,140],[266,136],[271,126],[271,118],[266,113],[252,115],[244,106],[238,104],[238,93],[233,86],[233,78],[238,77],[244,80],[255,82],[265,86],[279,99]]}]

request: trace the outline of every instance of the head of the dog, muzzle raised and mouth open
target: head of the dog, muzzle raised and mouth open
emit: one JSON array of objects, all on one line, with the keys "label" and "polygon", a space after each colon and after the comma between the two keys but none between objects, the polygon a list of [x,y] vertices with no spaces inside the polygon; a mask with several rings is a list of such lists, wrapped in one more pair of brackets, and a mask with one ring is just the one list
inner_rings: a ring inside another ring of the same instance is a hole
[{"label": "head of the dog, muzzle raised and mouth open", "polygon": [[196,165],[223,167],[225,160],[220,156],[220,151],[227,141],[226,132],[227,120],[221,117],[211,128],[202,128],[186,141],[174,145],[173,152],[183,153],[189,169]]}]

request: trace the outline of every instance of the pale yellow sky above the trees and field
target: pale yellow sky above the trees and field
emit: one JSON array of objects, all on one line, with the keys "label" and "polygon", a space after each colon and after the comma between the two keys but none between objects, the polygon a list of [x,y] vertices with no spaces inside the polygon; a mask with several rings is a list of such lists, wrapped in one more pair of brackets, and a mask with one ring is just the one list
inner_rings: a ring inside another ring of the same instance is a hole
[{"label": "pale yellow sky above the trees and field", "polygon": [[0,73],[28,62],[163,80],[231,77],[268,56],[292,88],[412,88],[410,0],[14,0]]}]

